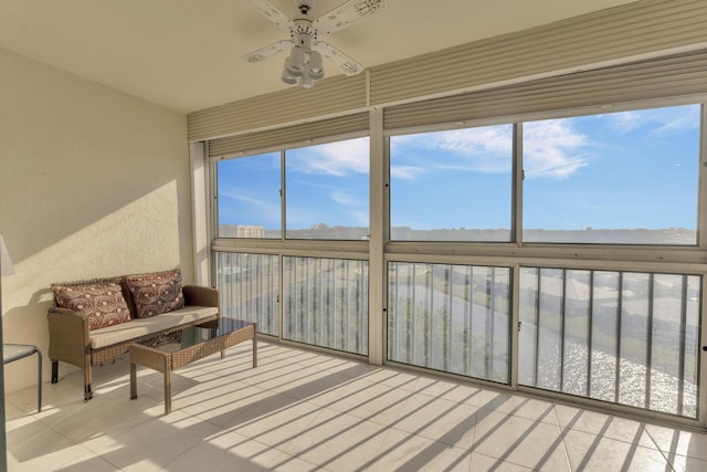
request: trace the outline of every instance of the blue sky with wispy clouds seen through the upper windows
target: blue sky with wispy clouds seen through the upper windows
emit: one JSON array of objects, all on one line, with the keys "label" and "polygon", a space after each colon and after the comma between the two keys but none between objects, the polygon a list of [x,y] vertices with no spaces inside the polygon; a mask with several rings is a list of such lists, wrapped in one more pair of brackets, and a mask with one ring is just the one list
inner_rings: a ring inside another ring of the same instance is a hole
[{"label": "blue sky with wispy clouds seen through the upper windows", "polygon": [[[509,228],[511,125],[391,137],[392,225]],[[696,228],[699,106],[524,124],[526,229]],[[368,225],[369,144],[287,151],[288,229]],[[279,153],[219,164],[220,222],[279,228]]]}]

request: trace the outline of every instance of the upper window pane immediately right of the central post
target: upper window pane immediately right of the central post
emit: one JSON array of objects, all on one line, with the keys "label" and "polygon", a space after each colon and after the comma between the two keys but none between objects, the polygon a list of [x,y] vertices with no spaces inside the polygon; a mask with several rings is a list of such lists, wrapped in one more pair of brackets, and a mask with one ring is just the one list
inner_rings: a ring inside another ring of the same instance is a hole
[{"label": "upper window pane immediately right of the central post", "polygon": [[511,176],[511,125],[391,137],[391,239],[510,241]]}]

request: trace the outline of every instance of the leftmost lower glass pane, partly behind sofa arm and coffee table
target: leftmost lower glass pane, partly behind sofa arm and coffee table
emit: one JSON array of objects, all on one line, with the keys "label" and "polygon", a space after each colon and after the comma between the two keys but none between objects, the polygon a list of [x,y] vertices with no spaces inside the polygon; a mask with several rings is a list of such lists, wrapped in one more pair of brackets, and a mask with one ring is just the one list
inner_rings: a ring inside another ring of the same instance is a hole
[{"label": "leftmost lower glass pane, partly behind sofa arm and coffee table", "polygon": [[217,252],[221,315],[257,323],[257,332],[279,336],[277,255]]}]

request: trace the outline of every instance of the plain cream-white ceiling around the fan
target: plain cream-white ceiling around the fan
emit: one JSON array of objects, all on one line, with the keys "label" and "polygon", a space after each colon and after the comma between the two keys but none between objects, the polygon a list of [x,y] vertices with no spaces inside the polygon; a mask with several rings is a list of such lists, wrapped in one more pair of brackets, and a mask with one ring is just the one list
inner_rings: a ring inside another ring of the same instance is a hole
[{"label": "plain cream-white ceiling around the fan", "polygon": [[[632,1],[387,0],[320,39],[374,66]],[[296,12],[292,0],[273,2]],[[344,2],[318,0],[312,17]],[[287,38],[246,0],[0,0],[0,48],[183,113],[287,87],[284,56],[240,59]]]}]

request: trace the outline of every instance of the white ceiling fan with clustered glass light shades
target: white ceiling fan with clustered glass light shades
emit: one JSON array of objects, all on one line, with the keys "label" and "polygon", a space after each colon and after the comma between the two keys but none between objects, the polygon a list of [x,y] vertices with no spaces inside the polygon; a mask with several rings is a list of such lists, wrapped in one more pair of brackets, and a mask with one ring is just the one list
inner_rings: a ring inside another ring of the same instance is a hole
[{"label": "white ceiling fan with clustered glass light shades", "polygon": [[323,57],[330,61],[346,75],[356,75],[363,66],[329,43],[319,41],[320,33],[334,33],[371,17],[386,7],[386,0],[349,0],[327,14],[313,19],[309,11],[315,0],[293,0],[298,14],[288,18],[271,0],[249,0],[257,11],[278,27],[289,29],[289,40],[277,41],[245,54],[251,63],[265,61],[281,52],[289,51],[285,59],[282,80],[303,88],[312,88],[314,81],[324,77]]}]

